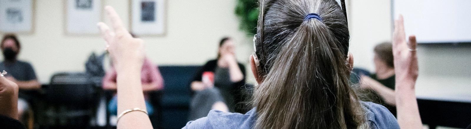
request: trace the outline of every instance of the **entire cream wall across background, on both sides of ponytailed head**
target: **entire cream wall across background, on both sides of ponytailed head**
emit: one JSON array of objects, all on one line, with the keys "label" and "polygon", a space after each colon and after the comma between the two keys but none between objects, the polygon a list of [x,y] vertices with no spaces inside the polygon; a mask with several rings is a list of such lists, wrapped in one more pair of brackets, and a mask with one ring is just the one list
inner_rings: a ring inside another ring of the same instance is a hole
[{"label": "entire cream wall across background, on both sides of ponytailed head", "polygon": [[[347,0],[351,32],[350,51],[355,65],[373,70],[373,47],[391,40],[390,0]],[[202,65],[214,58],[218,41],[232,36],[238,59],[248,62],[252,38],[238,30],[235,0],[167,0],[167,35],[142,37],[149,58],[159,65]],[[104,0],[117,8],[128,25],[128,0]],[[103,51],[98,36],[66,36],[62,0],[36,0],[35,32],[20,35],[20,59],[30,61],[42,83],[58,71],[83,71],[92,51]],[[406,19],[407,20],[407,19]],[[419,45],[419,95],[470,96],[471,45]],[[247,67],[248,68],[248,67]],[[248,74],[251,76],[251,74]],[[252,78],[252,77],[250,77]],[[249,79],[249,82],[254,82]]]}]

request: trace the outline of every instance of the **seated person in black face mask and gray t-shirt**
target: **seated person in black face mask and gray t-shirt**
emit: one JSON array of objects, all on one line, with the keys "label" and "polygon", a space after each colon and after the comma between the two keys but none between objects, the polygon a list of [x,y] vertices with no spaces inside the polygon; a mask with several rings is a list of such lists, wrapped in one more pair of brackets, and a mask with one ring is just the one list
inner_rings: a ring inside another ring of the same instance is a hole
[{"label": "seated person in black face mask and gray t-shirt", "polygon": [[0,44],[0,49],[3,53],[3,61],[0,62],[0,71],[5,70],[8,72],[6,78],[18,85],[19,98],[18,98],[18,114],[19,120],[22,114],[29,107],[28,91],[39,90],[41,83],[39,83],[36,73],[32,65],[26,61],[17,59],[18,53],[21,50],[21,45],[14,34],[7,34],[3,36]]}]

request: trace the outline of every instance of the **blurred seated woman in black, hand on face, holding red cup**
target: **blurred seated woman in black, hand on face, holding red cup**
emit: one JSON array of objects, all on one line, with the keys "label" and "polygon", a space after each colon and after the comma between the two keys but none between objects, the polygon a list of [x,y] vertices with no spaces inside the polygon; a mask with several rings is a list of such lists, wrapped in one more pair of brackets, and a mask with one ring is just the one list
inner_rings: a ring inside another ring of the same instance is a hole
[{"label": "blurred seated woman in black, hand on face, holding red cup", "polygon": [[204,117],[211,109],[240,112],[235,105],[243,101],[244,84],[245,67],[235,58],[234,40],[222,38],[217,59],[206,62],[190,85],[193,98],[189,119]]}]

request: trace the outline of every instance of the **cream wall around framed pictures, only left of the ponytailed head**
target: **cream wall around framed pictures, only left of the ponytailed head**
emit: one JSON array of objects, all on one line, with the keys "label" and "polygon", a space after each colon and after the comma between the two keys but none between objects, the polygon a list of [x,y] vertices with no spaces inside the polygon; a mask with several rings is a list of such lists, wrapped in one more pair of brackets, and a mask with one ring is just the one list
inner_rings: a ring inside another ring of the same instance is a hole
[{"label": "cream wall around framed pictures, only left of the ponytailed head", "polygon": [[[32,63],[41,83],[49,83],[55,72],[83,71],[89,54],[103,51],[104,40],[99,35],[65,35],[65,0],[35,1],[35,31],[19,35],[23,46],[19,58]],[[116,8],[129,26],[128,0],[103,1]],[[239,31],[234,8],[235,0],[167,0],[166,35],[141,37],[148,57],[159,65],[203,65],[215,58],[219,39],[231,36],[237,41],[239,61],[248,62],[252,38]]]}]

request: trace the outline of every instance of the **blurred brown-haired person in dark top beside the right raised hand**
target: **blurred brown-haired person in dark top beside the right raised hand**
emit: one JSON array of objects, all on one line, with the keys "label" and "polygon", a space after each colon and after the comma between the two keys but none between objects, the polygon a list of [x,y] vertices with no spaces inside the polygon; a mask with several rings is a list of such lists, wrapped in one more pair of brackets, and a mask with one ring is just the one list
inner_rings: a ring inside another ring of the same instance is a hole
[{"label": "blurred brown-haired person in dark top beside the right raised hand", "polygon": [[[366,90],[372,90],[373,102],[382,104],[396,116],[396,95],[394,56],[392,44],[384,42],[374,47],[374,74],[361,76],[360,86]],[[378,99],[379,98],[379,99]]]}]

